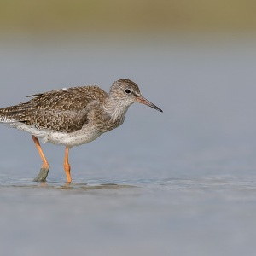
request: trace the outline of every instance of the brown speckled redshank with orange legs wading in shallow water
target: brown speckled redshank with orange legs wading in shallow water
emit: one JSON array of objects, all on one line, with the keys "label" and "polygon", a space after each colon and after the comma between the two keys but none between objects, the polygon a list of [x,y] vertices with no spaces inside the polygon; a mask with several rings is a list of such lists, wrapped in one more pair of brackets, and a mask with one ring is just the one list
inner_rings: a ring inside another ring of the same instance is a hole
[{"label": "brown speckled redshank with orange legs wading in shallow water", "polygon": [[43,143],[62,144],[66,147],[64,170],[67,182],[72,181],[68,162],[69,148],[90,143],[106,131],[122,125],[127,109],[140,102],[163,112],[145,99],[136,83],[119,79],[109,93],[98,86],[71,87],[31,95],[28,102],[0,108],[0,122],[32,134],[33,142],[43,161],[34,181],[45,181],[49,172],[38,138]]}]

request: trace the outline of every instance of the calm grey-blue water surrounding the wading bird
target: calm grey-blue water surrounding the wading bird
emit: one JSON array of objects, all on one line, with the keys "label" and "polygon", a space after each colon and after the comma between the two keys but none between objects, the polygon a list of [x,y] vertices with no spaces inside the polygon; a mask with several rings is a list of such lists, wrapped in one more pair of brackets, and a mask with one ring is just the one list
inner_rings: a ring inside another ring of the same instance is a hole
[{"label": "calm grey-blue water surrounding the wading bird", "polygon": [[71,184],[64,148],[49,144],[48,180],[32,182],[30,135],[1,126],[1,253],[253,255],[253,40],[1,43],[1,106],[128,78],[164,110],[134,105],[119,129],[73,148]]}]

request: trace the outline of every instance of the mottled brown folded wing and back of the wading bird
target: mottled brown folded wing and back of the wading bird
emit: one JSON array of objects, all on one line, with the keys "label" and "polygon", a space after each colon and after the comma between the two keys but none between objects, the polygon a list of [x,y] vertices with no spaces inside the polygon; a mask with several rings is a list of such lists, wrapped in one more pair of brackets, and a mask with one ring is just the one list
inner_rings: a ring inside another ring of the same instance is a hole
[{"label": "mottled brown folded wing and back of the wading bird", "polygon": [[102,102],[108,94],[97,86],[83,86],[33,96],[28,102],[1,108],[0,121],[18,121],[53,131],[77,131],[87,121],[86,106],[94,100]]}]

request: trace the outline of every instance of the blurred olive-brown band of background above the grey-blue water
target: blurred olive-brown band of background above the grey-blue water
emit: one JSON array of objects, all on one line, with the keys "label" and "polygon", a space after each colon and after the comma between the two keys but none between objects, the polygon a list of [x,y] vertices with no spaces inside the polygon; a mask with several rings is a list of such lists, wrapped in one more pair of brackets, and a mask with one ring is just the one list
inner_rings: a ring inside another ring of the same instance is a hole
[{"label": "blurred olive-brown band of background above the grey-blue water", "polygon": [[254,1],[15,1],[2,0],[1,30],[8,33],[250,32]]}]

